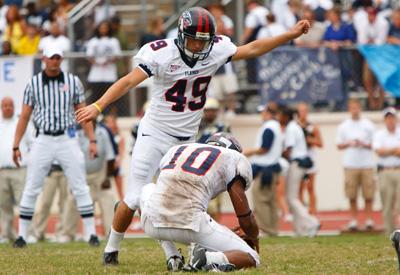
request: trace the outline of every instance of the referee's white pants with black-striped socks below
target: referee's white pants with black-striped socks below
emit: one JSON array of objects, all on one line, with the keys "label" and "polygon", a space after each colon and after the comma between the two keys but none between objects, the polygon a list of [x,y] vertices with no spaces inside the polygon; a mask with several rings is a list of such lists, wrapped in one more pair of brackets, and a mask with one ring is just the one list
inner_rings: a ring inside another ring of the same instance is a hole
[{"label": "referee's white pants with black-striped socks below", "polygon": [[37,196],[54,161],[60,164],[68,179],[81,216],[93,216],[93,202],[86,184],[85,160],[77,136],[40,134],[35,138],[29,154],[20,217],[28,220],[33,216]]}]

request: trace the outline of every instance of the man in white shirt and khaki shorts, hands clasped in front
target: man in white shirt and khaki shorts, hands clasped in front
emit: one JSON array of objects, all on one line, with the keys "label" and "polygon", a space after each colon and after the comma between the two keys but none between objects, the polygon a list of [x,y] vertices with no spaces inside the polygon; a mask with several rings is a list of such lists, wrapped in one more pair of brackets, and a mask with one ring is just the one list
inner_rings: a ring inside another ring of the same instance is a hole
[{"label": "man in white shirt and khaki shorts, hands clasped in front", "polygon": [[357,230],[357,193],[362,189],[365,200],[365,226],[372,229],[372,202],[375,192],[374,154],[371,148],[374,125],[361,117],[361,105],[356,99],[349,101],[351,118],[343,121],[338,128],[336,144],[339,150],[344,150],[343,166],[345,170],[345,192],[350,200],[352,219],[348,224],[350,230]]}]

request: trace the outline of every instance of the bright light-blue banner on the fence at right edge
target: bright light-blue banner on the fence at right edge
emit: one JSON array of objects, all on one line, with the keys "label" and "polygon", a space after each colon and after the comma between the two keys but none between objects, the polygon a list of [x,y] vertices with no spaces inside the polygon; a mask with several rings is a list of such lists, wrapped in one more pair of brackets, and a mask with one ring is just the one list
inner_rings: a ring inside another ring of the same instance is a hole
[{"label": "bright light-blue banner on the fence at right edge", "polygon": [[400,97],[400,46],[358,47],[385,91]]}]

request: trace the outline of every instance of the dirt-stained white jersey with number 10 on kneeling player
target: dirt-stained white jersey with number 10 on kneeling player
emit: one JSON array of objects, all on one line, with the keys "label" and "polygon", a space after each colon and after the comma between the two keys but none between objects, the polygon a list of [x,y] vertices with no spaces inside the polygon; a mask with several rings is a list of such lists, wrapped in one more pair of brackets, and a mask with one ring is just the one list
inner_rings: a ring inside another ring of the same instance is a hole
[{"label": "dirt-stained white jersey with number 10 on kneeling player", "polygon": [[251,166],[241,153],[218,146],[191,143],[172,147],[160,162],[161,173],[144,211],[155,227],[199,231],[208,203],[240,176],[246,190]]}]

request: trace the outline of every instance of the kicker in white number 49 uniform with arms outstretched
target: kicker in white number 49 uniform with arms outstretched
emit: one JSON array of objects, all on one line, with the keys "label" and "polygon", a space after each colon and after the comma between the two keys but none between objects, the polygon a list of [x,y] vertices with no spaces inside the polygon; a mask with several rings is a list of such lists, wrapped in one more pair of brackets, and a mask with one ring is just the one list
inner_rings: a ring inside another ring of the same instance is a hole
[{"label": "kicker in white number 49 uniform with arms outstretched", "polygon": [[[310,24],[299,21],[288,32],[236,47],[228,37],[215,35],[215,21],[205,9],[182,13],[178,37],[144,45],[134,57],[135,67],[92,105],[77,111],[77,121],[95,119],[110,103],[148,77],[154,78],[151,103],[140,122],[132,152],[130,179],[119,203],[104,250],[104,264],[117,264],[124,233],[139,208],[142,187],[151,182],[161,158],[173,146],[193,142],[198,131],[207,88],[217,69],[231,60],[261,56],[306,33]],[[167,259],[170,242],[161,242]],[[170,266],[170,265],[168,265]]]}]

